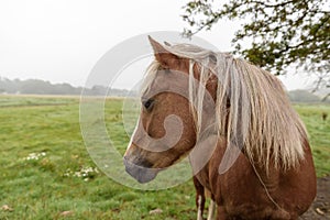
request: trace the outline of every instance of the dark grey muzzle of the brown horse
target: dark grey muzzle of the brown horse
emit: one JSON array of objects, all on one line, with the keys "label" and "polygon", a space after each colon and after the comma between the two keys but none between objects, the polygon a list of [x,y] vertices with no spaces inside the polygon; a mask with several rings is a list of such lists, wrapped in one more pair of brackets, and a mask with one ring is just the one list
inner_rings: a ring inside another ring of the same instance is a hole
[{"label": "dark grey muzzle of the brown horse", "polygon": [[136,179],[140,184],[145,184],[153,180],[157,174],[158,169],[156,168],[146,168],[143,166],[139,166],[127,158],[123,160],[125,165],[125,170],[130,174],[134,179]]}]

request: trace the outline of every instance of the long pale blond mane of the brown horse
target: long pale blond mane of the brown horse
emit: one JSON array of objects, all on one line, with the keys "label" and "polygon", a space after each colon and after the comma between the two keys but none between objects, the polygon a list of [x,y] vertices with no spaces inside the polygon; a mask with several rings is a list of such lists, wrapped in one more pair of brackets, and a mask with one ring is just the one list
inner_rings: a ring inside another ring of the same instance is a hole
[{"label": "long pale blond mane of the brown horse", "polygon": [[[216,125],[219,136],[239,146],[250,161],[266,169],[296,167],[304,158],[306,129],[289,103],[282,82],[270,73],[227,53],[215,53],[190,44],[165,45],[168,52],[190,61],[189,101],[200,131],[207,82],[218,77]],[[200,70],[194,80],[194,65]],[[143,90],[155,77],[160,64],[147,70]],[[229,102],[229,105],[227,105]],[[193,105],[195,103],[195,105]]]}]

